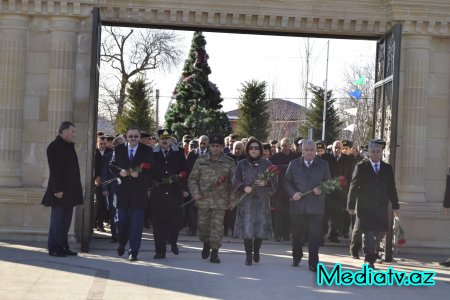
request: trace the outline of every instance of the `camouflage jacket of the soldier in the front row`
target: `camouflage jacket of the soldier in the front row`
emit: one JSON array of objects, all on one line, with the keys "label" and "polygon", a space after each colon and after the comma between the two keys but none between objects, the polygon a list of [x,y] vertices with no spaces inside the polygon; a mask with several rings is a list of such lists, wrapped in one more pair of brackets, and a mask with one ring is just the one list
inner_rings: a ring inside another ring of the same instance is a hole
[{"label": "camouflage jacket of the soldier in the front row", "polygon": [[189,192],[192,196],[200,194],[195,201],[199,208],[227,209],[231,197],[231,180],[236,165],[234,160],[222,154],[217,161],[211,154],[199,157],[189,175]]}]

